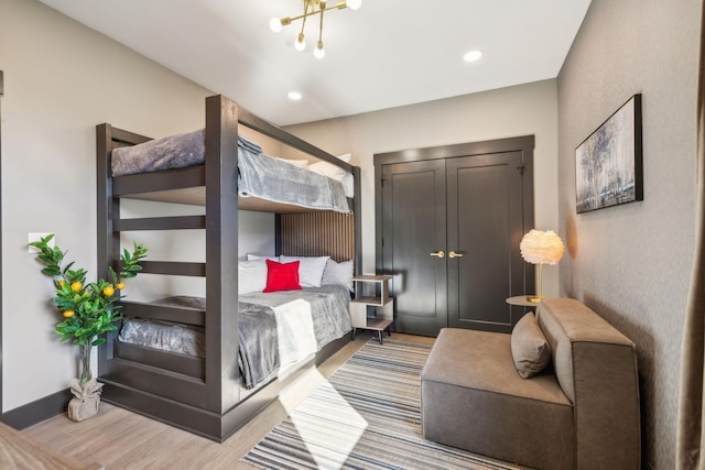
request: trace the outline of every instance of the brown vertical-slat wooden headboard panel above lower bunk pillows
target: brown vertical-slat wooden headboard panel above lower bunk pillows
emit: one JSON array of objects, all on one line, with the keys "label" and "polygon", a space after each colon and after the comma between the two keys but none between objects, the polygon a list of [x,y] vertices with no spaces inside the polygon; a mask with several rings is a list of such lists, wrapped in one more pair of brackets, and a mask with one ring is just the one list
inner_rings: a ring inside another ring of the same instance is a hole
[{"label": "brown vertical-slat wooden headboard panel above lower bunk pillows", "polygon": [[282,214],[281,254],[355,259],[355,217],[333,211]]}]

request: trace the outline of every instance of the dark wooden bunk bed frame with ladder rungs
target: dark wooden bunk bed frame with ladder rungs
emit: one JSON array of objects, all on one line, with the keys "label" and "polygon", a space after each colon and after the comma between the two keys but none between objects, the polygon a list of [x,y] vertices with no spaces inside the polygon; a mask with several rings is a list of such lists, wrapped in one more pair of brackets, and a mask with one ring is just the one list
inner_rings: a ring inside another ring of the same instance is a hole
[{"label": "dark wooden bunk bed frame with ladder rungs", "polygon": [[[349,210],[316,210],[239,192],[241,127],[351,174],[354,195],[347,198]],[[205,144],[203,159],[182,167],[142,168],[113,176],[113,150],[153,141],[107,123],[97,125],[96,132],[99,274],[107,276],[109,266],[118,267],[121,232],[203,229],[206,244],[203,263],[150,260],[143,263],[143,273],[205,277],[207,302],[178,295],[174,297],[178,302],[121,302],[126,319],[196,328],[202,336],[203,353],[160,350],[126,342],[118,332],[110,334],[99,349],[98,374],[105,383],[102,398],[223,441],[275,400],[278,393],[302,376],[307,368],[319,364],[349,341],[348,335],[326,340],[325,345],[318,345],[315,354],[295,363],[286,374],[264,373],[265,380],[245,383],[238,335],[246,324],[246,314],[239,310],[242,305],[249,308],[250,304],[241,304],[238,295],[238,209],[275,214],[278,255],[354,259],[355,272],[360,273],[360,170],[223,96],[206,98],[205,130],[198,138]],[[122,219],[122,198],[202,205],[205,215]],[[314,297],[323,295],[313,291]],[[283,300],[279,304],[289,298],[288,293],[281,294]],[[234,308],[238,305],[240,308]]]}]

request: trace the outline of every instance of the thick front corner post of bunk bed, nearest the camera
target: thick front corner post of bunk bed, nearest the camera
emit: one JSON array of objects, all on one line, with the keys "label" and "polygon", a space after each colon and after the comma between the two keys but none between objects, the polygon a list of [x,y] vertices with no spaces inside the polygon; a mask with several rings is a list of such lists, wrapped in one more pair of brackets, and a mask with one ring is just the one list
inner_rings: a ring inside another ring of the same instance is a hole
[{"label": "thick front corner post of bunk bed, nearest the camera", "polygon": [[[206,390],[208,409],[239,400],[238,378],[238,107],[206,99]],[[235,340],[232,340],[235,338]]]}]

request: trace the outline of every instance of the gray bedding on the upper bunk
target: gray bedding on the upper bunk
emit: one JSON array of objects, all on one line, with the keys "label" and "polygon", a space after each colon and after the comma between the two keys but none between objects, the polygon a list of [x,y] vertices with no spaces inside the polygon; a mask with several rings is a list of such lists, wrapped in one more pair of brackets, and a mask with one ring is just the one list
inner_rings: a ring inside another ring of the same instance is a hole
[{"label": "gray bedding on the upper bunk", "polygon": [[[170,135],[112,151],[112,176],[175,170],[204,162],[204,130]],[[238,138],[238,195],[310,209],[350,211],[345,186],[312,171],[262,153],[253,142]]]}]

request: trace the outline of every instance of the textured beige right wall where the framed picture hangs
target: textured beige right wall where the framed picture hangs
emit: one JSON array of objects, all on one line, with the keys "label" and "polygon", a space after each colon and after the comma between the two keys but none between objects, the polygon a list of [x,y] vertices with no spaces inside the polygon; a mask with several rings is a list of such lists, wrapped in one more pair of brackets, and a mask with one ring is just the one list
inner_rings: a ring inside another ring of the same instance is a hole
[{"label": "textured beige right wall where the framed picture hangs", "polygon": [[[558,75],[561,293],[637,343],[646,468],[674,468],[701,3],[593,0]],[[643,95],[644,200],[576,215],[575,147],[634,94]]]}]

